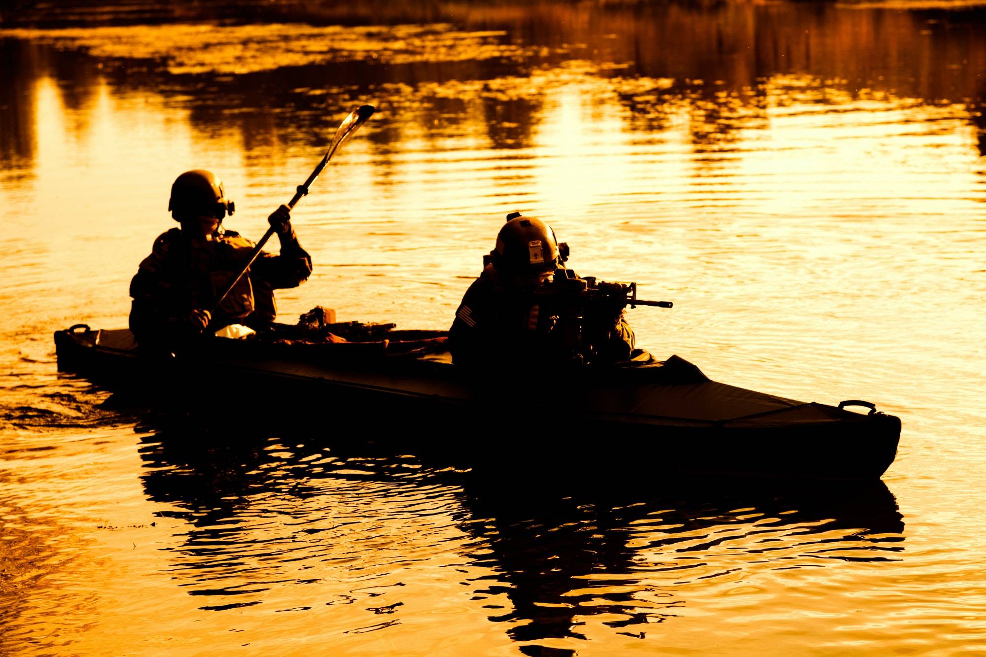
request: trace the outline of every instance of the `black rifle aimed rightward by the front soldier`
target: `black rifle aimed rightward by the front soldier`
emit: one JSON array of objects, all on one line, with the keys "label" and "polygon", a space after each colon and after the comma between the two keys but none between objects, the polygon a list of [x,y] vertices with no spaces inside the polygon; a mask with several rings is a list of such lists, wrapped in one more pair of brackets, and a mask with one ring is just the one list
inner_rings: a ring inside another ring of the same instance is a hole
[{"label": "black rifle aimed rightward by the front soldier", "polygon": [[550,332],[550,342],[568,358],[584,363],[593,362],[611,349],[613,343],[623,341],[624,335],[614,337],[614,330],[632,335],[629,326],[620,322],[627,306],[673,306],[669,301],[638,299],[636,282],[607,282],[595,276],[583,278],[572,269],[561,267],[555,269],[550,281],[532,290],[531,296],[539,306],[539,315],[551,318],[543,323]]}]

